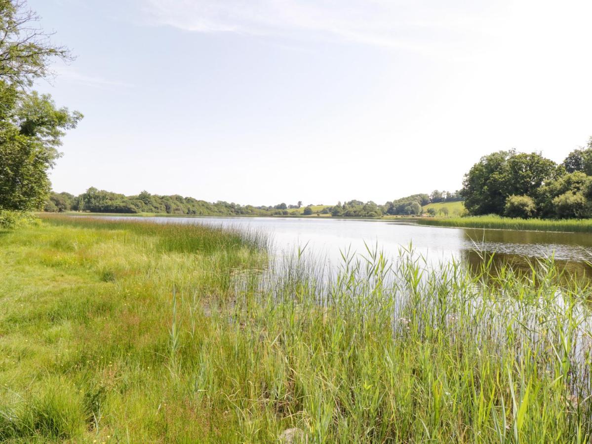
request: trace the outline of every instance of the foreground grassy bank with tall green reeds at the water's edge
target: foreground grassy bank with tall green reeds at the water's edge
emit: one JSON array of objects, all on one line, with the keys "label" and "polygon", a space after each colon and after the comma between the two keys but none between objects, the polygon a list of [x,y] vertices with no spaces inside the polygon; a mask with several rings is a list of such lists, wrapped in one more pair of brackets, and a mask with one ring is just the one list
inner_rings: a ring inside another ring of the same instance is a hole
[{"label": "foreground grassy bank with tall green reeds at the water's edge", "polygon": [[592,295],[553,264],[267,264],[201,226],[2,232],[0,439],[586,442]]}]

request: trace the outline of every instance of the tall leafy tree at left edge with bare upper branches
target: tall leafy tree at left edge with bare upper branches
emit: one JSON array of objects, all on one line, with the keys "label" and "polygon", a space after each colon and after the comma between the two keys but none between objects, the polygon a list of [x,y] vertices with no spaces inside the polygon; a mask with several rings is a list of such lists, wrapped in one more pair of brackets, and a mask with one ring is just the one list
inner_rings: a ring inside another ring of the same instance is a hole
[{"label": "tall leafy tree at left edge with bare upper branches", "polygon": [[37,21],[24,1],[0,0],[0,210],[42,208],[57,148],[82,118],[30,90],[34,80],[52,75],[53,59],[72,59]]}]

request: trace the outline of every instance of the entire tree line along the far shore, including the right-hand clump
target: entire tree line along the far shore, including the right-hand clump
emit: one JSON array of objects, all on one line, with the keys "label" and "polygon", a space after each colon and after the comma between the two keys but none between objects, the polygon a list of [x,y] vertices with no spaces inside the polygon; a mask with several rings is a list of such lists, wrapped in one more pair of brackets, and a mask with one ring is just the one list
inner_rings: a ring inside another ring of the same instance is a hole
[{"label": "entire tree line along the far shore, including the right-hand clump", "polygon": [[[571,151],[556,164],[540,153],[519,153],[516,150],[496,151],[481,157],[465,174],[463,187],[456,192],[434,190],[395,199],[384,205],[373,201],[349,200],[323,206],[314,211],[304,207],[303,215],[320,214],[333,217],[376,218],[385,215],[419,216],[429,203],[462,200],[468,215],[499,215],[514,218],[592,218],[592,137],[586,147]],[[322,205],[321,205],[322,206]],[[166,213],[176,215],[290,215],[297,205],[279,203],[274,206],[239,205],[229,202],[206,202],[180,195],[125,196],[91,187],[79,196],[50,193],[44,210],[86,211],[97,213]],[[435,215],[429,209],[429,215]],[[445,212],[448,215],[448,210]],[[461,214],[455,214],[460,216]]]}]

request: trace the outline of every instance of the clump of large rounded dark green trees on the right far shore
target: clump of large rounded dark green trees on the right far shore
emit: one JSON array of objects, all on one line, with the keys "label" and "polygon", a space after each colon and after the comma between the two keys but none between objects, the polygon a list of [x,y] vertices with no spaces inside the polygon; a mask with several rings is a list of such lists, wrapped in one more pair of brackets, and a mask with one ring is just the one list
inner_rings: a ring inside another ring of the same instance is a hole
[{"label": "clump of large rounded dark green trees on the right far shore", "polygon": [[465,174],[460,194],[469,215],[592,218],[592,137],[561,164],[516,150],[485,155]]}]

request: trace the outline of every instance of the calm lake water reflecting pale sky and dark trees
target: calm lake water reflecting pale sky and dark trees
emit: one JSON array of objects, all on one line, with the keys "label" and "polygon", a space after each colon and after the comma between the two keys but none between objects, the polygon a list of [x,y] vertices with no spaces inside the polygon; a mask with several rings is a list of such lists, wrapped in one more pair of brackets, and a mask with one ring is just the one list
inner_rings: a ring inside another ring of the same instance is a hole
[{"label": "calm lake water reflecting pale sky and dark trees", "polygon": [[[130,217],[124,216],[126,219]],[[537,259],[555,257],[561,268],[578,276],[592,277],[592,235],[475,228],[443,228],[414,225],[413,221],[372,221],[333,218],[237,218],[154,217],[141,220],[161,223],[205,223],[262,230],[272,236],[276,253],[292,253],[304,247],[305,254],[341,261],[340,251],[359,254],[378,245],[388,258],[398,256],[410,244],[435,263],[452,257],[479,267],[483,254],[494,254],[497,264],[508,262],[526,270]],[[481,253],[478,253],[480,251]]]}]

